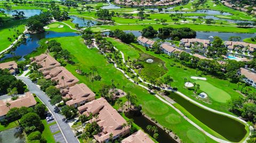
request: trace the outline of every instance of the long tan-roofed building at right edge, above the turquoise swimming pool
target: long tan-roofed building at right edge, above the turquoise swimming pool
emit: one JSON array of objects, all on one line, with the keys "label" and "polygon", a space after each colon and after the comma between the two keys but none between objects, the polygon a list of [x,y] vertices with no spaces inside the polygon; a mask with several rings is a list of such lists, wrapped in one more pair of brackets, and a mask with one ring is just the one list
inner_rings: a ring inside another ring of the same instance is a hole
[{"label": "long tan-roofed building at right edge, above the turquoise swimming pool", "polygon": [[230,51],[241,51],[250,53],[256,51],[256,44],[245,43],[242,41],[225,41],[224,45]]}]

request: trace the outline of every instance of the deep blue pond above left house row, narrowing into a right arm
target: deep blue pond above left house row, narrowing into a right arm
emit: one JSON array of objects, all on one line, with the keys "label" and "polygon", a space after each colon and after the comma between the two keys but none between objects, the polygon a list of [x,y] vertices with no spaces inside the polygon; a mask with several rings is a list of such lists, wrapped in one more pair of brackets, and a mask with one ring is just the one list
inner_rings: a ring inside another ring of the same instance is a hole
[{"label": "deep blue pond above left house row, narrowing into a right arm", "polygon": [[[21,44],[18,46],[12,53],[5,54],[1,60],[4,60],[5,58],[10,58],[13,56],[26,56],[29,53],[36,50],[37,47],[39,47],[39,40],[43,38],[55,38],[55,37],[66,37],[66,36],[78,36],[77,33],[74,32],[53,32],[53,31],[47,31],[43,33],[36,33],[36,34],[26,34],[26,43]],[[0,60],[0,61],[1,61]],[[23,60],[21,58],[20,60]]]}]

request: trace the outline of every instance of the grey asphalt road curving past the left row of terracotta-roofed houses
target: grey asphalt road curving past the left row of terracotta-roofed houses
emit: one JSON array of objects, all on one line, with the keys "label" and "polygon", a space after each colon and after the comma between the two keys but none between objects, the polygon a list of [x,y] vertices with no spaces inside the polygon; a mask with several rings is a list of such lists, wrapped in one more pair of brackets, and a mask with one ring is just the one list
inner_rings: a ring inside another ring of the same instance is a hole
[{"label": "grey asphalt road curving past the left row of terracotta-roofed houses", "polygon": [[33,83],[29,78],[26,77],[16,77],[17,79],[21,79],[29,88],[29,91],[33,94],[36,94],[38,98],[42,100],[42,102],[50,109],[52,115],[54,116],[55,120],[58,122],[61,132],[65,136],[68,143],[79,143],[77,138],[75,137],[74,132],[71,130],[69,125],[62,121],[64,118],[63,115],[54,112],[54,106],[52,106],[49,102],[50,98],[40,90],[35,83]]}]

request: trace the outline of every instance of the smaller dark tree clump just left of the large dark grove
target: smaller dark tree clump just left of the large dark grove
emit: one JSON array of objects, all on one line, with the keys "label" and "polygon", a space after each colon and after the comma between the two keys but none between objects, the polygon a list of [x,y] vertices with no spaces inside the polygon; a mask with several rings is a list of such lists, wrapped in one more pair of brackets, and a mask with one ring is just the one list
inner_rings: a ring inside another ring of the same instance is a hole
[{"label": "smaller dark tree clump just left of the large dark grove", "polygon": [[123,43],[130,44],[135,41],[135,36],[133,33],[125,33],[122,30],[116,29],[114,31],[109,31],[109,37],[116,37],[123,41]]}]

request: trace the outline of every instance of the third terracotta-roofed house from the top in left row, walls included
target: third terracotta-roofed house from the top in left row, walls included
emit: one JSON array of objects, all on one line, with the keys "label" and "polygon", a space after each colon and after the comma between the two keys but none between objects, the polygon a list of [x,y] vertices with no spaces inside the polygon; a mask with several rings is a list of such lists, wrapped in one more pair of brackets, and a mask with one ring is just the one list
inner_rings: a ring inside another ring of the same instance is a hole
[{"label": "third terracotta-roofed house from the top in left row, walls included", "polygon": [[63,89],[61,94],[63,99],[70,99],[66,104],[75,108],[95,99],[95,94],[84,83]]}]

